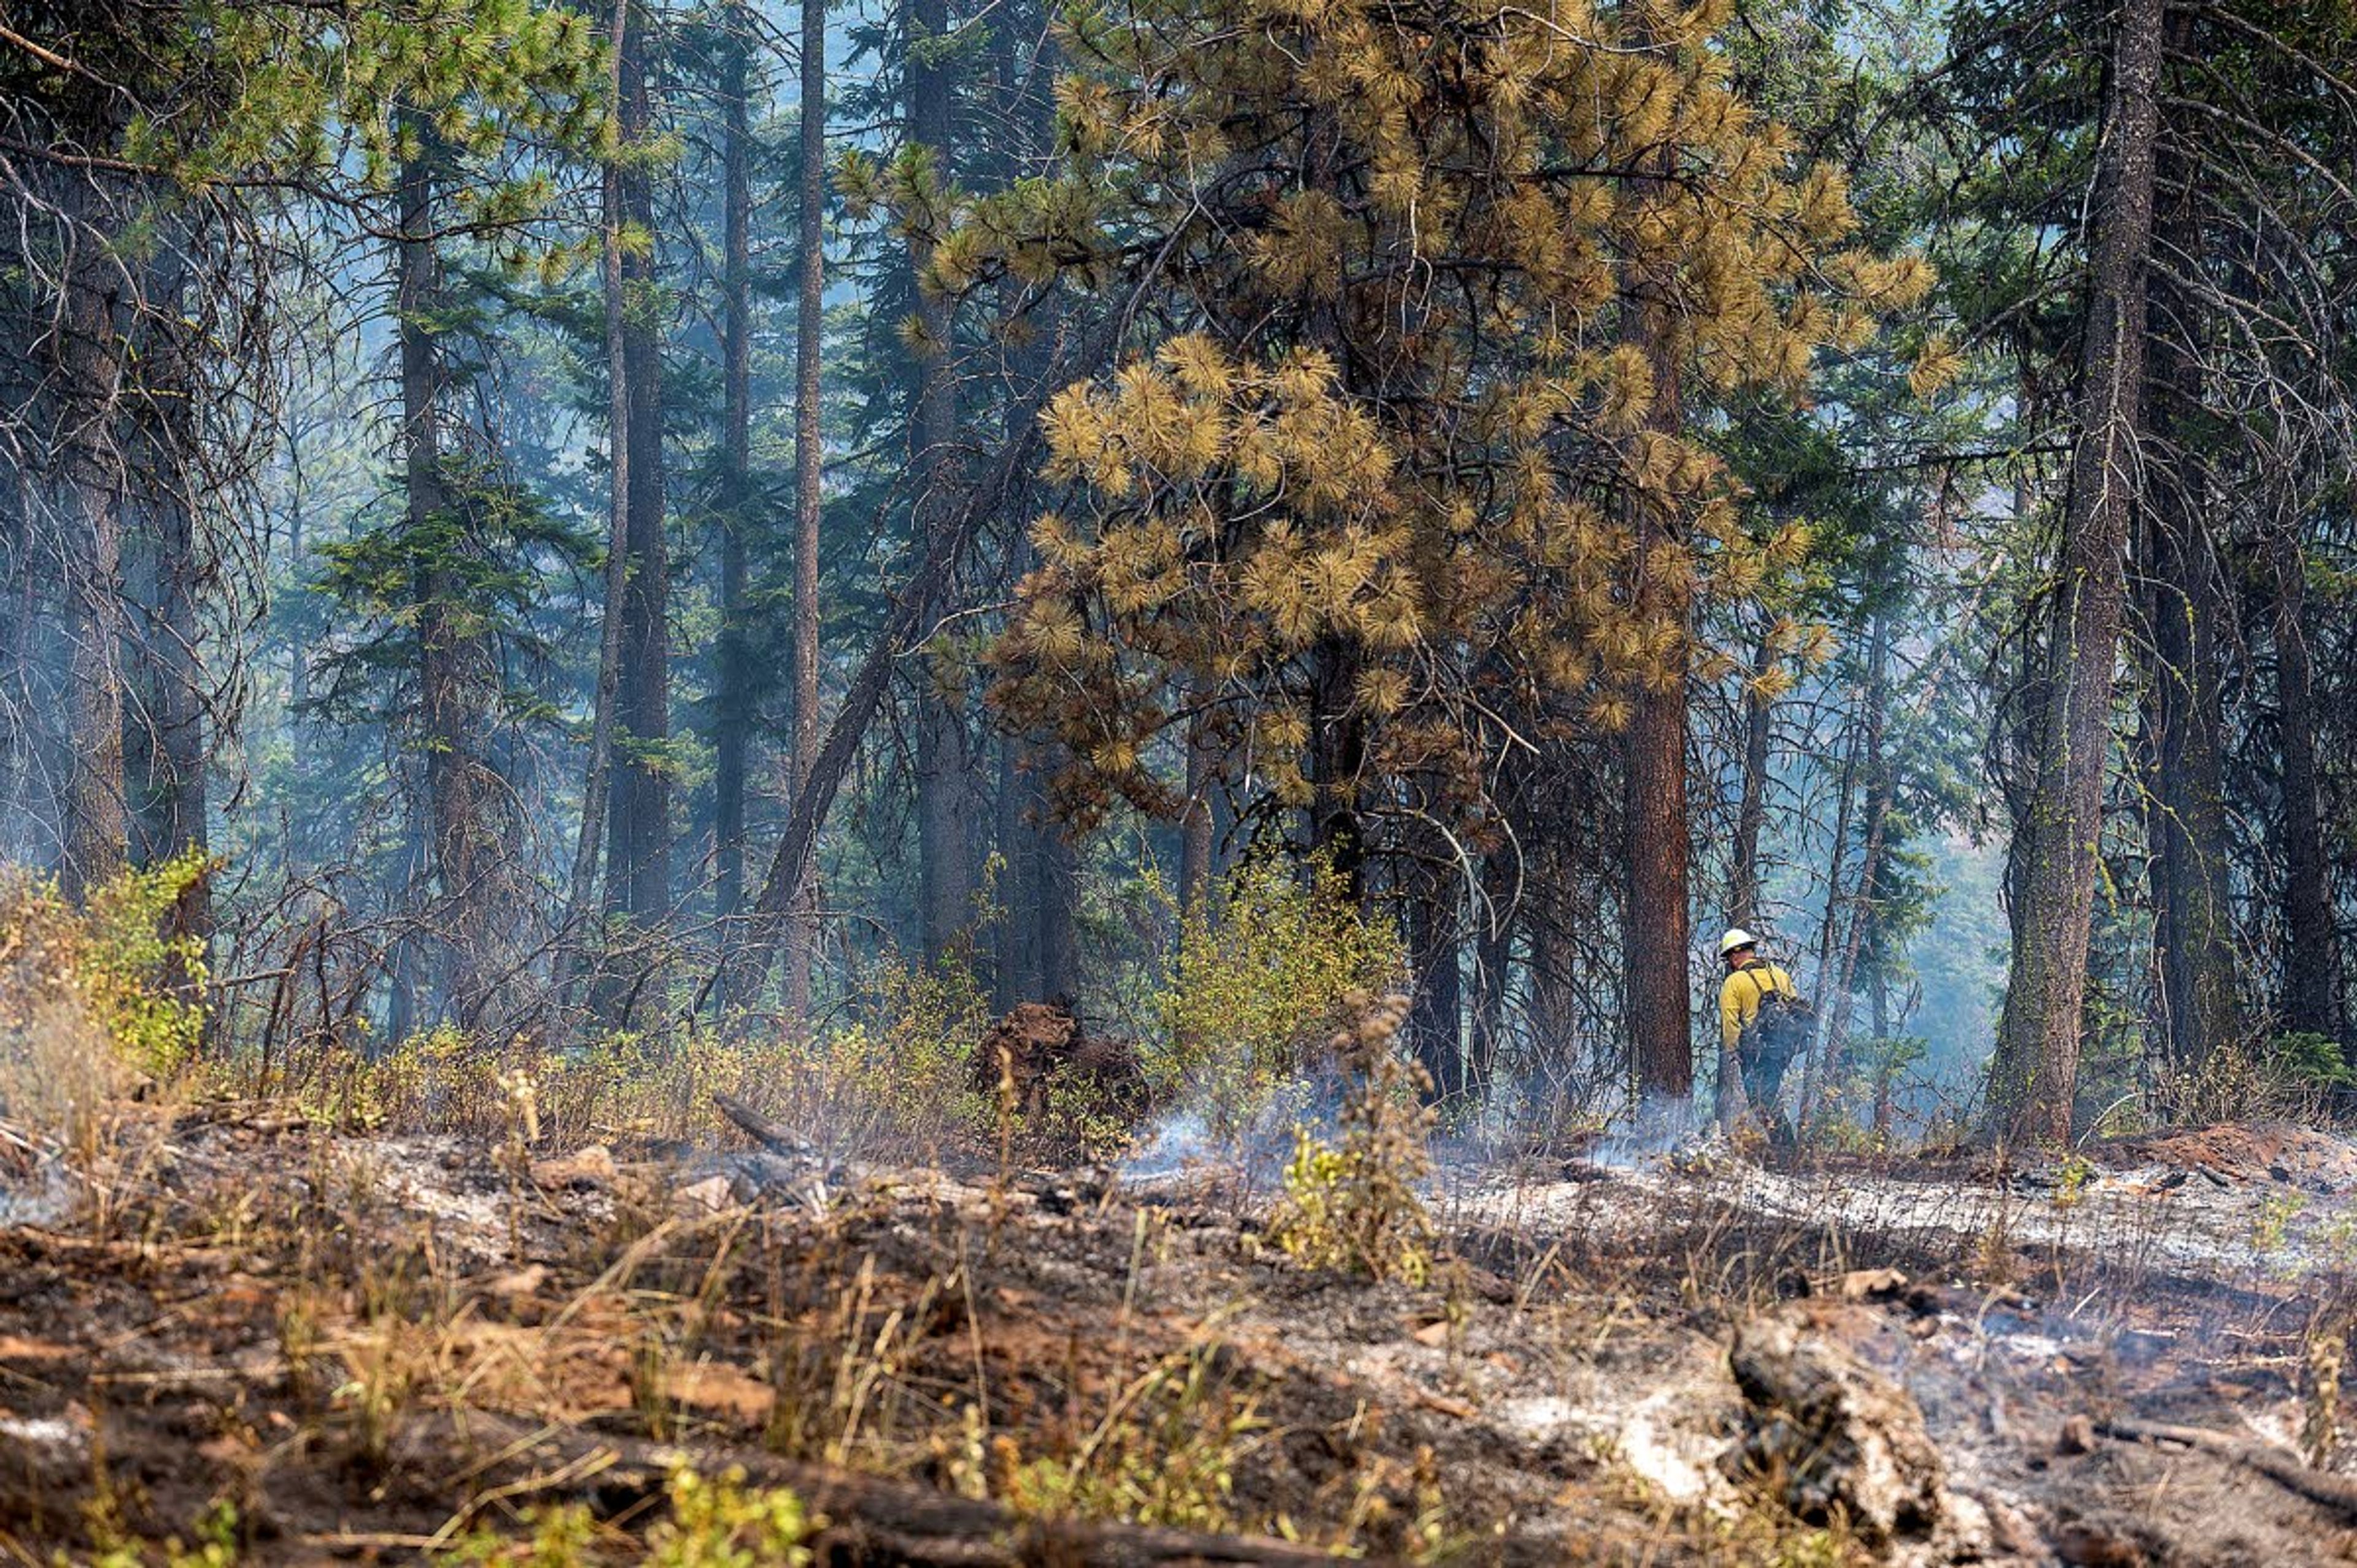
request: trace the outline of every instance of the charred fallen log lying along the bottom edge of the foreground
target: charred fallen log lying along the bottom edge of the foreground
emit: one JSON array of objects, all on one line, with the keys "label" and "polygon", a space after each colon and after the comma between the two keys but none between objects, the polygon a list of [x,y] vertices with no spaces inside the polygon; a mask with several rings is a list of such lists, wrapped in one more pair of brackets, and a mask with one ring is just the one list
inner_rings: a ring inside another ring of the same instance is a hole
[{"label": "charred fallen log lying along the bottom edge of the foreground", "polygon": [[797,1464],[738,1448],[686,1450],[580,1429],[535,1431],[483,1412],[415,1419],[403,1427],[396,1452],[427,1471],[478,1455],[460,1469],[476,1502],[443,1528],[453,1540],[495,1500],[585,1497],[608,1516],[636,1511],[662,1495],[674,1464],[691,1462],[705,1476],[735,1467],[752,1485],[790,1488],[825,1521],[808,1547],[827,1568],[1313,1568],[1332,1561],[1254,1535],[1030,1518],[997,1502],[834,1464]]}]

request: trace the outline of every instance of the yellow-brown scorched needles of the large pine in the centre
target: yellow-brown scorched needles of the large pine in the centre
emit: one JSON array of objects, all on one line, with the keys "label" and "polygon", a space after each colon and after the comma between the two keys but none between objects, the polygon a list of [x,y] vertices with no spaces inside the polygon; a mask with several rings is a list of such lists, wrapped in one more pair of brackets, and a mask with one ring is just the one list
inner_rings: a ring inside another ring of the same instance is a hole
[{"label": "yellow-brown scorched needles of the large pine in the centre", "polygon": [[1362,776],[1478,809],[1499,736],[1617,729],[1706,658],[1702,599],[1805,556],[1747,526],[1709,410],[1808,398],[1930,269],[1855,248],[1841,174],[1735,94],[1730,9],[1068,24],[1065,172],[962,205],[933,255],[943,290],[1153,271],[1167,323],[1056,396],[1068,505],[992,655],[995,700],[1070,747],[1068,809],[1171,811],[1150,743],[1176,722],[1280,804],[1348,724]]}]

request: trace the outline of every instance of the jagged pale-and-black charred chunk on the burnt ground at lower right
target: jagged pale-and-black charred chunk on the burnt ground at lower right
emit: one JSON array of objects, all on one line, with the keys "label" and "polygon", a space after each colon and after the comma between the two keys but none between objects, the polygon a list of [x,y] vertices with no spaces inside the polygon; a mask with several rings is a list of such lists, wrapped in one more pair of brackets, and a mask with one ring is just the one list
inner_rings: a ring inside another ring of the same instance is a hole
[{"label": "jagged pale-and-black charred chunk on the burnt ground at lower right", "polygon": [[1803,1311],[1739,1325],[1728,1368],[1749,1408],[1721,1469],[1782,1488],[1801,1518],[1838,1511],[1867,1540],[1937,1530],[1947,1471],[1902,1386]]}]

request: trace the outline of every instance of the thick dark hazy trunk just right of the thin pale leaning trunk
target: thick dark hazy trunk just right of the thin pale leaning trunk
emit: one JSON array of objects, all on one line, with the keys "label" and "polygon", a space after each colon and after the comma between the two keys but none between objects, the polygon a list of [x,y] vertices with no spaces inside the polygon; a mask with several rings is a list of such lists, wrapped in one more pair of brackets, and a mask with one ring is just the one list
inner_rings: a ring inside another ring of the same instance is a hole
[{"label": "thick dark hazy trunk just right of the thin pale leaning trunk", "polygon": [[[620,116],[625,146],[643,146],[653,111],[646,90],[646,19],[632,14],[622,35]],[[620,217],[632,231],[655,236],[653,177],[627,158],[618,182]],[[662,337],[655,321],[655,257],[622,250],[622,387],[629,453],[627,500],[629,568],[622,589],[622,674],[615,686],[615,757],[608,813],[606,908],[627,915],[632,941],[660,924],[672,905],[672,783],[662,750],[669,743],[669,552],[662,533]],[[641,969],[639,962],[629,964]]]}]

